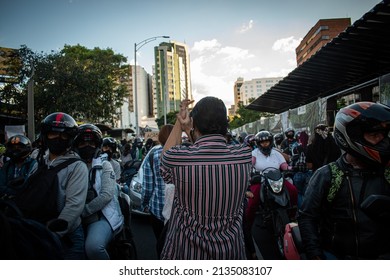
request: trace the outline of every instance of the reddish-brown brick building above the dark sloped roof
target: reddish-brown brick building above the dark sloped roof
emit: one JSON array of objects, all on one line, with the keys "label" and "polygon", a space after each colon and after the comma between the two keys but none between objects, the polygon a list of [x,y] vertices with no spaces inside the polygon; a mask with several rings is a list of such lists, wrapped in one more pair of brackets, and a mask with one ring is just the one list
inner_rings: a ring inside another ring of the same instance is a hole
[{"label": "reddish-brown brick building above the dark sloped roof", "polygon": [[297,65],[299,66],[308,60],[350,25],[350,18],[320,19],[295,49]]}]

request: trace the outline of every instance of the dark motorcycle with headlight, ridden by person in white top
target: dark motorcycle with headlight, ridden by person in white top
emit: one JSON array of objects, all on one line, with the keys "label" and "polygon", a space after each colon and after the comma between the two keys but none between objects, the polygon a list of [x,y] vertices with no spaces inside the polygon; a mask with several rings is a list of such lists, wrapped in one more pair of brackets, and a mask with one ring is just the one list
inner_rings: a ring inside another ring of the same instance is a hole
[{"label": "dark motorcycle with headlight, ridden by person in white top", "polygon": [[278,253],[284,255],[285,227],[295,216],[296,207],[291,205],[283,173],[274,167],[264,169],[252,177],[252,183],[260,182],[260,213],[265,226],[271,231]]}]

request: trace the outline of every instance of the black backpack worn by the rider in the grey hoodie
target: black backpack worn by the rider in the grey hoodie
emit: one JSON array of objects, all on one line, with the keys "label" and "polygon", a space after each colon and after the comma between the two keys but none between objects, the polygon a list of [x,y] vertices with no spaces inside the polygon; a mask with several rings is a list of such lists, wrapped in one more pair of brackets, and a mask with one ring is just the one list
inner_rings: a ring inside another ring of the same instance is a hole
[{"label": "black backpack worn by the rider in the grey hoodie", "polygon": [[69,158],[57,166],[47,168],[41,164],[38,169],[27,178],[25,187],[14,201],[26,218],[46,223],[59,215],[58,200],[58,172],[68,165],[79,161],[79,158]]}]

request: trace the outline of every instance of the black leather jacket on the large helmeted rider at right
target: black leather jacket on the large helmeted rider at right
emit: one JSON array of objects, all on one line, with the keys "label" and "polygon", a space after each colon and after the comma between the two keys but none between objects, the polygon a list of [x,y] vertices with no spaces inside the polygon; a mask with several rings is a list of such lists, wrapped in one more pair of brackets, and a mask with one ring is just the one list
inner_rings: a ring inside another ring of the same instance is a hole
[{"label": "black leather jacket on the large helmeted rider at right", "polygon": [[307,258],[324,258],[323,250],[338,259],[377,259],[389,254],[390,221],[368,216],[360,207],[368,195],[390,196],[389,182],[378,170],[354,170],[343,157],[336,163],[350,175],[343,177],[334,199],[327,200],[331,171],[326,165],[310,179],[299,211],[298,224]]}]

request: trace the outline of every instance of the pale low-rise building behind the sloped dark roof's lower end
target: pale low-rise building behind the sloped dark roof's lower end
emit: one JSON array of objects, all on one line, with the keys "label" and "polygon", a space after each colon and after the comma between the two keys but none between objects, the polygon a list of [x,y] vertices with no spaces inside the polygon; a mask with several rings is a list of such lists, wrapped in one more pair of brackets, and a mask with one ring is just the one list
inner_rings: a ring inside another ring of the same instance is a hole
[{"label": "pale low-rise building behind the sloped dark roof's lower end", "polygon": [[[272,86],[277,84],[283,77],[274,77],[274,78],[258,78],[252,79],[250,81],[242,80],[242,84],[239,88],[240,91],[240,101],[243,105],[250,104],[250,99],[256,99]],[[238,81],[238,80],[237,80]],[[238,84],[236,82],[236,84]],[[236,101],[235,101],[236,102]],[[238,103],[236,103],[238,106]]]}]

